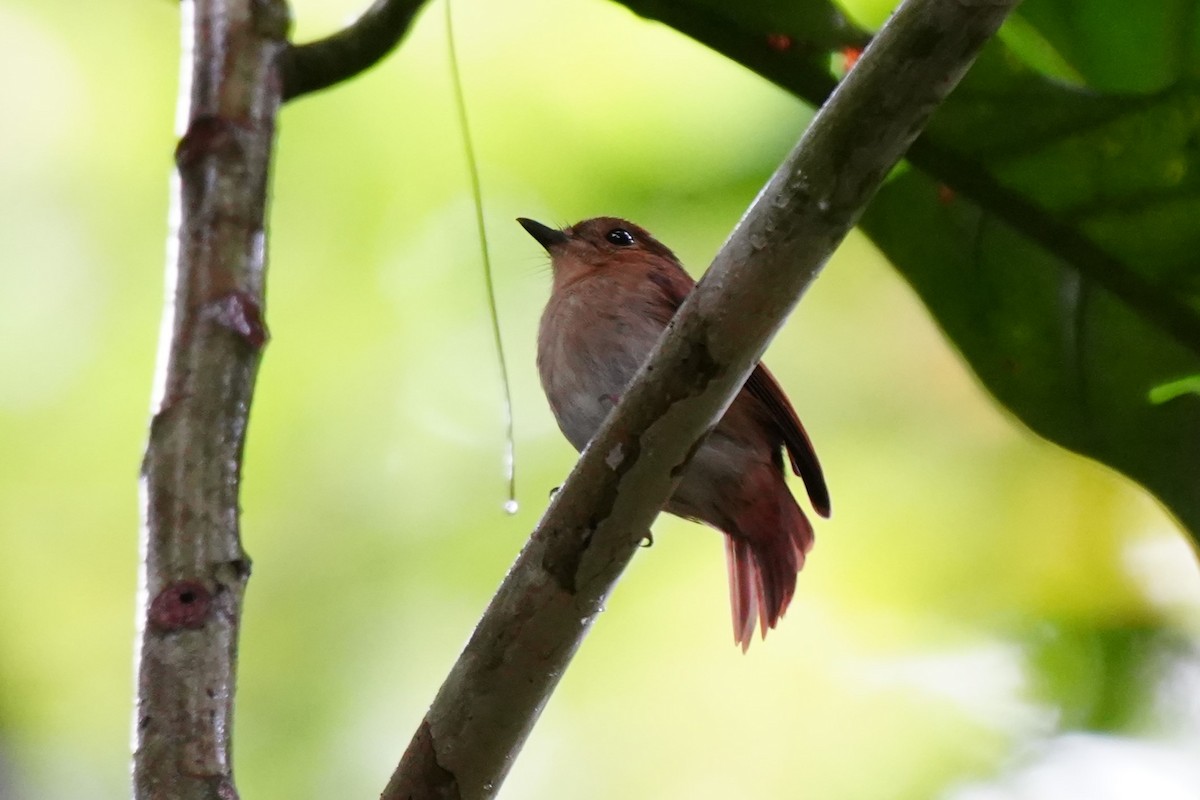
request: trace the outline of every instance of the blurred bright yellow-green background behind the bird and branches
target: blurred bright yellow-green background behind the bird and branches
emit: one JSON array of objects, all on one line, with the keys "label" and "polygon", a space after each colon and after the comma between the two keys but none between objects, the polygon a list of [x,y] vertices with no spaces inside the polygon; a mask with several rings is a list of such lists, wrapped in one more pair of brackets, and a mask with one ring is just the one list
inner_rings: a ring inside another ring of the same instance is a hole
[{"label": "blurred bright yellow-green background behind the bird and branches", "polygon": [[[359,5],[296,2],[298,38]],[[379,792],[572,463],[533,366],[546,259],[512,218],[628,216],[698,272],[809,116],[614,5],[457,0],[516,395],[509,517],[430,12],[383,67],[281,119],[245,798]],[[2,796],[127,794],[178,14],[0,6]],[[787,619],[743,656],[718,535],[664,519],[504,796],[1195,798],[1200,575],[1166,516],[998,411],[858,236],[768,361],[835,506]]]}]

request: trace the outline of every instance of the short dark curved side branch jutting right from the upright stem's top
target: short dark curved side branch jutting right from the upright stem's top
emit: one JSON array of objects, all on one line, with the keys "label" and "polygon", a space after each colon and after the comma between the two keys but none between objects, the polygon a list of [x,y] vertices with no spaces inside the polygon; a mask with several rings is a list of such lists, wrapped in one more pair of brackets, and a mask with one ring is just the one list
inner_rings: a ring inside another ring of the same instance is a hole
[{"label": "short dark curved side branch jutting right from the upright stem's top", "polygon": [[283,100],[329,89],[364,72],[391,53],[425,0],[376,0],[343,30],[282,55]]}]

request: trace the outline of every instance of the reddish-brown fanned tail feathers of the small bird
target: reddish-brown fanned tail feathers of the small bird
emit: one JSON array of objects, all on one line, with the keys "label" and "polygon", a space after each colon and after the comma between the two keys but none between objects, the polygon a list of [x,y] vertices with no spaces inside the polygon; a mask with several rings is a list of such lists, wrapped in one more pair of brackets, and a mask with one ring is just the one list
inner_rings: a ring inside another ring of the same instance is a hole
[{"label": "reddish-brown fanned tail feathers of the small bird", "polygon": [[775,627],[796,594],[796,576],[812,548],[812,525],[796,504],[784,477],[770,470],[748,476],[754,501],[726,531],[733,639],[745,651],[755,620],[762,636]]}]

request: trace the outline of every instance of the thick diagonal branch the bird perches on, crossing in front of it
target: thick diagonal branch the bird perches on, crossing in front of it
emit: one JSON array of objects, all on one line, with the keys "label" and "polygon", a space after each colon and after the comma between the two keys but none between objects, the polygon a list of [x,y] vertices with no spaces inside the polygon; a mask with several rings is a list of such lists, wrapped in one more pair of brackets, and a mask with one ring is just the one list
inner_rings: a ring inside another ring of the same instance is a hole
[{"label": "thick diagonal branch the bird perches on, crossing in front of it", "polygon": [[703,433],[1019,0],[907,0],[834,92],[587,447],[384,800],[491,798]]}]

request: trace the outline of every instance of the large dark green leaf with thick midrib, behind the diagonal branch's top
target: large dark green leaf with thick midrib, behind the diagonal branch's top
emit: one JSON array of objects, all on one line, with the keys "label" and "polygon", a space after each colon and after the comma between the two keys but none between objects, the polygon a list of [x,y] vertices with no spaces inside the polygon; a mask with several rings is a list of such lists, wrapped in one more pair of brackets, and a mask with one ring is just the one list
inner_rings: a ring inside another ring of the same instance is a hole
[{"label": "large dark green leaf with thick midrib, behind the diagonal branch's top", "polygon": [[[761,1],[653,5],[814,104],[834,85],[828,52],[769,47]],[[862,228],[997,399],[1140,482],[1200,541],[1200,398],[1159,399],[1200,374],[1198,6],[1030,0]],[[847,30],[816,40],[833,52]]]}]

